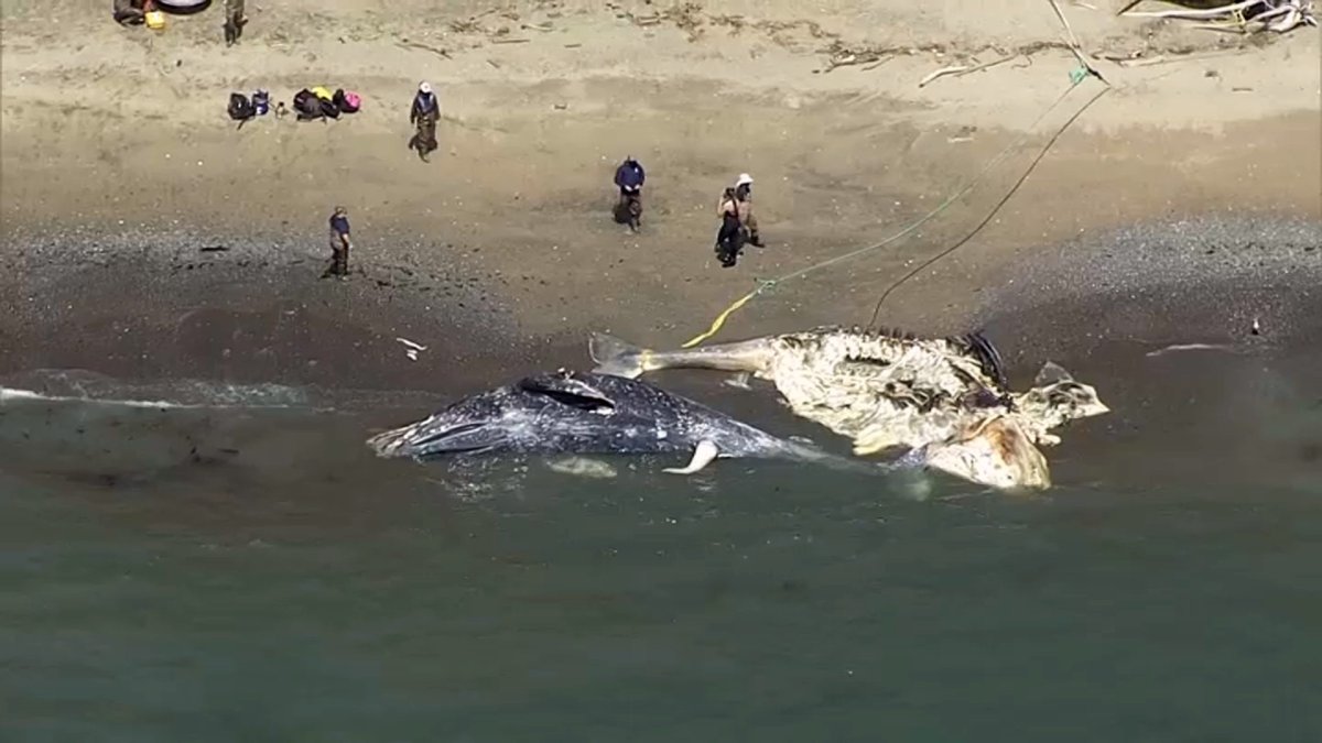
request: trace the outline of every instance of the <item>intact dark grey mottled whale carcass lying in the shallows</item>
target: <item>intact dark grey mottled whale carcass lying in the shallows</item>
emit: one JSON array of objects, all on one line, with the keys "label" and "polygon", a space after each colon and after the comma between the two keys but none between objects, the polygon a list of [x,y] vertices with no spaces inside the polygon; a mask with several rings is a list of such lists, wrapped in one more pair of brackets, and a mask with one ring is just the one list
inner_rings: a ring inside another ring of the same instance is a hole
[{"label": "intact dark grey mottled whale carcass lying in the shallows", "polygon": [[795,459],[876,472],[875,465],[773,436],[645,382],[559,370],[464,398],[368,440],[379,456],[483,453],[686,453],[665,472],[717,457]]}]

